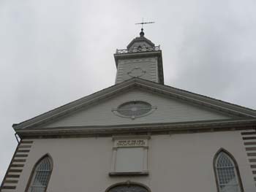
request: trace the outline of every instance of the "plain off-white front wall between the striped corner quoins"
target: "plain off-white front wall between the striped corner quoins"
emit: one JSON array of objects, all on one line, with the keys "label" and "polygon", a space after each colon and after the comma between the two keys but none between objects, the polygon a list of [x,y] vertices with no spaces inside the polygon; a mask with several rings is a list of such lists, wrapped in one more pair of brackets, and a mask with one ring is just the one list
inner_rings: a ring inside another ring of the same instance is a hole
[{"label": "plain off-white front wall between the striped corner quoins", "polygon": [[213,158],[221,147],[236,158],[244,191],[255,191],[240,131],[151,136],[148,146],[148,176],[110,177],[111,137],[34,139],[15,191],[25,190],[34,164],[49,153],[53,172],[48,192],[105,191],[127,180],[152,192],[216,192]]}]

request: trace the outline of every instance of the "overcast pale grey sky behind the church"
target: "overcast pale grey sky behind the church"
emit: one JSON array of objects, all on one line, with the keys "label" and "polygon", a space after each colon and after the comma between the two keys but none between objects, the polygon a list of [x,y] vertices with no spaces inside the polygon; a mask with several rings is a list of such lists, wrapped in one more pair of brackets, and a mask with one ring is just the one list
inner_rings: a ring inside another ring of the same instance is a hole
[{"label": "overcast pale grey sky behind the church", "polygon": [[113,53],[161,45],[165,85],[256,109],[256,1],[1,0],[0,183],[12,123],[114,84]]}]

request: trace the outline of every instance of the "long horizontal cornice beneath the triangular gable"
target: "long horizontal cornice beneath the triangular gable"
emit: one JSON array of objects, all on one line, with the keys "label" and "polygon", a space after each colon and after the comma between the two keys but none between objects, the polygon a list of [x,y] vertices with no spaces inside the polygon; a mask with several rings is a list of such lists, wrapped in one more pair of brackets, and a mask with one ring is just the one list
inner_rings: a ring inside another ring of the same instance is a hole
[{"label": "long horizontal cornice beneath the triangular gable", "polygon": [[20,138],[27,137],[105,137],[130,134],[184,134],[211,131],[236,131],[256,128],[255,119],[222,120],[187,123],[156,123],[117,126],[77,126],[29,128],[16,130]]}]

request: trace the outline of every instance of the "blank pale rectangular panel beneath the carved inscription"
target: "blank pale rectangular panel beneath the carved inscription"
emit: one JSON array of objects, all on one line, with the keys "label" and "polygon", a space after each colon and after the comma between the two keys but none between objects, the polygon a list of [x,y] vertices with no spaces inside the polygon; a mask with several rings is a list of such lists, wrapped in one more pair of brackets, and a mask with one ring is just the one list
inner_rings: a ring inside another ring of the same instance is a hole
[{"label": "blank pale rectangular panel beneath the carved inscription", "polygon": [[116,151],[116,172],[142,172],[143,147],[120,147]]}]

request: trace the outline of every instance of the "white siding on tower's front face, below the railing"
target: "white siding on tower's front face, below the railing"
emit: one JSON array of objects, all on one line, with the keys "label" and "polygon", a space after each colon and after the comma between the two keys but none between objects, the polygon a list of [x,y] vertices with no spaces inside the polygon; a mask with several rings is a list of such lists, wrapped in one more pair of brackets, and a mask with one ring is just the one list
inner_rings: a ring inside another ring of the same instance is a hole
[{"label": "white siding on tower's front face, below the railing", "polygon": [[139,67],[146,73],[140,76],[145,80],[151,80],[153,82],[159,82],[158,69],[157,69],[157,57],[150,58],[137,58],[137,59],[120,59],[118,60],[118,69],[116,72],[116,83],[123,82],[132,78],[128,74],[135,67]]}]

